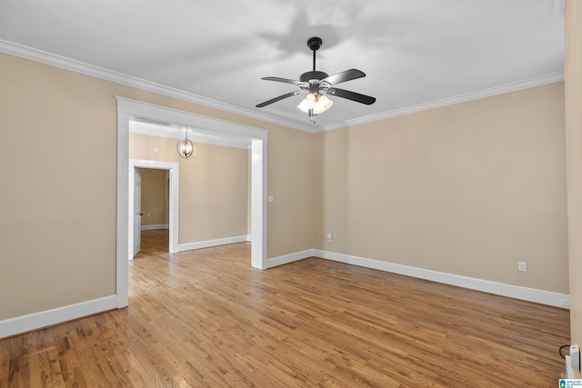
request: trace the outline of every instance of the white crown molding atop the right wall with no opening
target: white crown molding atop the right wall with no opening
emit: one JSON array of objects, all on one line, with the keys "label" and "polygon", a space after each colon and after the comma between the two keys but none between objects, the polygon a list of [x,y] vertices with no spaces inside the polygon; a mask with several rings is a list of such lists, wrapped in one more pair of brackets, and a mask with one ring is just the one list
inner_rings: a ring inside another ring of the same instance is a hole
[{"label": "white crown molding atop the right wall with no opening", "polygon": [[517,81],[506,85],[499,85],[487,89],[478,90],[476,92],[471,92],[464,95],[453,95],[451,97],[442,98],[439,100],[431,101],[429,103],[405,106],[403,108],[394,109],[391,111],[383,112],[381,114],[370,114],[364,117],[356,118],[354,120],[348,120],[338,124],[326,125],[323,127],[323,129],[317,132],[332,131],[334,129],[344,128],[346,126],[366,124],[373,121],[383,120],[386,118],[396,117],[404,114],[414,114],[416,112],[426,111],[429,109],[434,109],[442,106],[465,103],[467,101],[477,100],[479,98],[490,97],[493,95],[503,95],[505,93],[517,92],[518,90],[541,85],[553,84],[560,81],[564,81],[564,72],[553,73],[550,75],[542,75],[524,81]]}]

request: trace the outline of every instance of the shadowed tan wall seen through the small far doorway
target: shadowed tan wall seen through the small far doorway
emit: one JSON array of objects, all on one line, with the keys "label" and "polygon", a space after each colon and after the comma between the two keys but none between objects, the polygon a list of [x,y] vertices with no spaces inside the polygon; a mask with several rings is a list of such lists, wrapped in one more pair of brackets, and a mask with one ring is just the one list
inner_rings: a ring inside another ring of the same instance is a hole
[{"label": "shadowed tan wall seen through the small far doorway", "polygon": [[141,172],[142,226],[168,224],[167,171],[142,168]]}]

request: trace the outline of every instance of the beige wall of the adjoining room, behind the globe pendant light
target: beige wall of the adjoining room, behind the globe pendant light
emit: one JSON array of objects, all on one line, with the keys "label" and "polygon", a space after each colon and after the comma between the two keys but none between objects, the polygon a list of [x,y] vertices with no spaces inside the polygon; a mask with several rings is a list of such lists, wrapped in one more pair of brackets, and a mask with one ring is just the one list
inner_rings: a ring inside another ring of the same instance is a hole
[{"label": "beige wall of the adjoining room, behind the globe pendant light", "polygon": [[180,164],[179,244],[249,234],[249,150],[196,143],[194,158],[183,159],[176,142],[130,134],[129,157]]}]

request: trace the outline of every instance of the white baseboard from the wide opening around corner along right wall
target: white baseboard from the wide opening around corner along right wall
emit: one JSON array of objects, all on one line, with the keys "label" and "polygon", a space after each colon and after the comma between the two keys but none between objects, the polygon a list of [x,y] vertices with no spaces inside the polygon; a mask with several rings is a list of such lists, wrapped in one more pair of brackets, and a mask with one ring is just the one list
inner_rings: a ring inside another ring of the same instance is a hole
[{"label": "white baseboard from the wide opening around corner along right wall", "polygon": [[423,268],[411,267],[408,265],[394,264],[380,260],[366,259],[365,257],[352,256],[349,254],[336,254],[334,252],[310,249],[295,254],[286,254],[267,260],[267,268],[281,264],[293,263],[307,257],[320,257],[326,260],[333,260],[339,263],[353,264],[361,267],[386,271],[393,274],[403,274],[416,277],[418,279],[430,280],[442,284],[456,285],[470,290],[482,291],[484,293],[495,293],[497,295],[520,299],[528,302],[547,304],[550,306],[569,308],[570,296],[566,293],[553,293],[550,291],[537,290],[535,288],[521,287],[513,284],[502,284],[458,274],[447,274]]}]

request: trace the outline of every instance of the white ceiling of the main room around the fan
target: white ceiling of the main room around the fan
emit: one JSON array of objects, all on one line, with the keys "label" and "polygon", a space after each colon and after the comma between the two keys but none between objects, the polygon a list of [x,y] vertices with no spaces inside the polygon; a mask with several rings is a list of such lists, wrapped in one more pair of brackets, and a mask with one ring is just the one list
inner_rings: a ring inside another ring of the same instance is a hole
[{"label": "white ceiling of the main room around the fan", "polygon": [[[0,51],[316,132],[563,79],[564,0],[0,0]],[[311,70],[366,73],[311,124]]]}]

